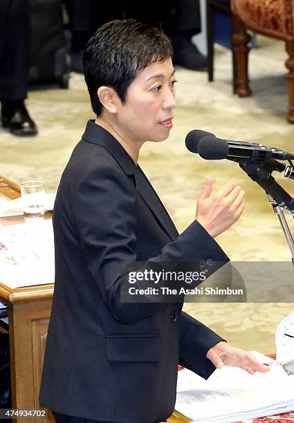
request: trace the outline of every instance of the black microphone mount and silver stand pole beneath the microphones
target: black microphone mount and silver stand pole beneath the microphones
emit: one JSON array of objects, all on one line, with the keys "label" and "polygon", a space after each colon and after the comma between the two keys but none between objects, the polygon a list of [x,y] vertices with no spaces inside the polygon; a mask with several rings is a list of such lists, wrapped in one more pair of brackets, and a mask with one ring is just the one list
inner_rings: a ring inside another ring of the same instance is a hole
[{"label": "black microphone mount and silver stand pole beneath the microphones", "polygon": [[239,162],[239,167],[248,174],[249,178],[257,182],[257,184],[266,191],[273,211],[277,215],[279,223],[282,226],[284,236],[291,251],[291,259],[294,266],[294,241],[284,216],[284,209],[286,209],[288,212],[291,212],[294,218],[294,198],[275,181],[275,178],[271,175],[271,172],[275,170],[275,168],[273,166],[273,168],[270,169],[270,164],[268,164],[268,162],[260,162],[257,160],[251,161],[248,158],[240,158],[237,161]]}]

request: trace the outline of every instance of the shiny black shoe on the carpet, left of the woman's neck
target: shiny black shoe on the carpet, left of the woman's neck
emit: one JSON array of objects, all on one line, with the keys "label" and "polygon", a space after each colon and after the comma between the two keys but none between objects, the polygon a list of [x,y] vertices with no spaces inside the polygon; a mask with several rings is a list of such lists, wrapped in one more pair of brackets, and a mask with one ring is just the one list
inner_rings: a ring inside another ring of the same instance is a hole
[{"label": "shiny black shoe on the carpet, left of the woman's neck", "polygon": [[3,128],[8,128],[12,135],[33,136],[37,135],[37,126],[30,118],[24,101],[2,102],[1,123]]}]

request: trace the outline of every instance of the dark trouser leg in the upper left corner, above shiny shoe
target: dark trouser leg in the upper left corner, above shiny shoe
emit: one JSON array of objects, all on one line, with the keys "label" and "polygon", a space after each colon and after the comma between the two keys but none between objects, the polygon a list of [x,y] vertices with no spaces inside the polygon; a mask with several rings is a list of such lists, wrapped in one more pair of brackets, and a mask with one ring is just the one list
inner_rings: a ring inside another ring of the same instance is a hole
[{"label": "dark trouser leg in the upper left corner, above shiny shoe", "polygon": [[0,0],[0,97],[24,100],[28,90],[28,0]]}]

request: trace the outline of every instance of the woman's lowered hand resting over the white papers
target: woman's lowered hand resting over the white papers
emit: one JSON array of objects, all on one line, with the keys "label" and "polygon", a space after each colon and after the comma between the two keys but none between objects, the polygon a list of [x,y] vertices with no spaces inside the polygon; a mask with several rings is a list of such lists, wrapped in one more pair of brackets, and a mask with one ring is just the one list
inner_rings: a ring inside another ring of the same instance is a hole
[{"label": "woman's lowered hand resting over the white papers", "polygon": [[250,373],[250,375],[254,375],[255,372],[266,373],[270,370],[268,366],[261,364],[248,351],[230,346],[225,341],[221,341],[210,348],[206,357],[217,368],[222,368],[223,366],[240,367]]}]

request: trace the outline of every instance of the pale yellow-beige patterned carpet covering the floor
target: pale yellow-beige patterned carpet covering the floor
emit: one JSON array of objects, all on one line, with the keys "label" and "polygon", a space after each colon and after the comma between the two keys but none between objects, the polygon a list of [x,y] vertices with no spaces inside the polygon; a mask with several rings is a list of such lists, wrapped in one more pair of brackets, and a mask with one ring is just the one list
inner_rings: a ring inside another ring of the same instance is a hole
[{"label": "pale yellow-beige patterned carpet covering the floor", "polygon": [[[206,174],[214,188],[235,180],[246,191],[246,210],[239,222],[219,236],[219,243],[234,261],[289,261],[288,246],[277,217],[263,191],[239,169],[221,160],[207,162],[185,149],[185,135],[204,129],[221,138],[275,145],[294,151],[294,127],[286,122],[287,86],[284,75],[284,44],[259,38],[259,48],[250,53],[252,97],[232,95],[230,51],[217,48],[215,82],[207,74],[178,68],[178,108],[169,140],[146,144],[140,165],[181,232],[195,214],[196,198]],[[49,89],[50,88],[50,89]],[[84,81],[72,74],[70,89],[38,87],[29,93],[28,107],[39,127],[34,139],[14,138],[0,129],[0,174],[20,182],[45,181],[53,192],[71,151],[93,118]],[[277,181],[291,193],[294,182]],[[293,227],[293,219],[288,216]],[[277,276],[279,279],[279,276]],[[293,277],[294,281],[294,277]],[[275,329],[294,312],[293,303],[187,303],[185,310],[217,330],[235,346],[275,353]]]}]

